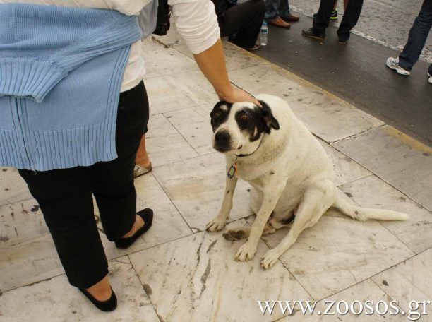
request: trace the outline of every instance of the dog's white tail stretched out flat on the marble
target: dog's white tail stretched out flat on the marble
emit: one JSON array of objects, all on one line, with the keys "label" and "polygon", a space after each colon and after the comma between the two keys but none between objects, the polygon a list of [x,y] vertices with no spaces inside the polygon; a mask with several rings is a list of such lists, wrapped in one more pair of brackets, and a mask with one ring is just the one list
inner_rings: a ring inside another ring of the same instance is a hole
[{"label": "dog's white tail stretched out flat on the marble", "polygon": [[352,217],[352,219],[361,222],[376,219],[376,220],[407,220],[409,215],[406,213],[398,213],[397,211],[373,208],[361,208],[356,205],[351,205],[344,200],[342,196],[337,196],[333,207],[339,210],[344,215]]}]

